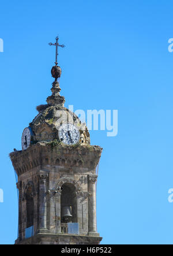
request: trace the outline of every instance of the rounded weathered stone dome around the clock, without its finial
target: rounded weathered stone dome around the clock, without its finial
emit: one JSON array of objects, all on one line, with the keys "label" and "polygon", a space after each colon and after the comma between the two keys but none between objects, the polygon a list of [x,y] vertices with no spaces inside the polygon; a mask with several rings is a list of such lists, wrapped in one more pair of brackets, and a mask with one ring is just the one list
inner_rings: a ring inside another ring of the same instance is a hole
[{"label": "rounded weathered stone dome around the clock, without its finial", "polygon": [[63,123],[71,123],[76,125],[80,131],[81,144],[90,144],[90,136],[85,123],[81,123],[80,119],[69,109],[58,105],[40,105],[37,107],[39,114],[29,124],[33,132],[33,142],[50,142],[58,140],[58,128]]}]

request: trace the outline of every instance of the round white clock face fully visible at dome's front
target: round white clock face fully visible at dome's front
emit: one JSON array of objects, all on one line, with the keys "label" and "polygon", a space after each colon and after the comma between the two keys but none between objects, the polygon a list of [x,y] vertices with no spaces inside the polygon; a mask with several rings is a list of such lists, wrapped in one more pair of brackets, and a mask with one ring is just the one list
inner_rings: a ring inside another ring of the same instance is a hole
[{"label": "round white clock face fully visible at dome's front", "polygon": [[59,128],[59,139],[68,145],[76,144],[80,140],[80,132],[73,124],[62,124]]}]

